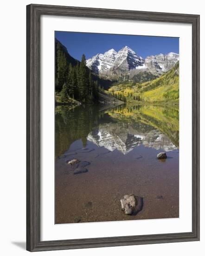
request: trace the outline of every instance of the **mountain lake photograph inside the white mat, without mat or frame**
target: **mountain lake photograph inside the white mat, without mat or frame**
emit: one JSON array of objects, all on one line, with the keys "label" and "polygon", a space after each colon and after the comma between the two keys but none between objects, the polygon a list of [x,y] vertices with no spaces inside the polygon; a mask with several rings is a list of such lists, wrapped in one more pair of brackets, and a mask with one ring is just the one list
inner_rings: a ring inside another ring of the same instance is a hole
[{"label": "mountain lake photograph inside the white mat, without mat or frame", "polygon": [[179,38],[54,40],[55,224],[179,218]]}]

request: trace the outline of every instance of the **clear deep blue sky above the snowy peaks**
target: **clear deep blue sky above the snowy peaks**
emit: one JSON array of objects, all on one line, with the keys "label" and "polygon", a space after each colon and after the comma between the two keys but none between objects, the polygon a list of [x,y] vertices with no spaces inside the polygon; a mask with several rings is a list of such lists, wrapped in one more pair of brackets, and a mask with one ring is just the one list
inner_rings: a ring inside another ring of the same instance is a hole
[{"label": "clear deep blue sky above the snowy peaks", "polygon": [[68,53],[75,59],[81,60],[82,54],[86,59],[98,53],[104,53],[111,48],[119,51],[122,47],[132,48],[142,58],[148,55],[179,54],[179,38],[141,35],[97,34],[81,32],[56,31],[55,37],[67,48]]}]

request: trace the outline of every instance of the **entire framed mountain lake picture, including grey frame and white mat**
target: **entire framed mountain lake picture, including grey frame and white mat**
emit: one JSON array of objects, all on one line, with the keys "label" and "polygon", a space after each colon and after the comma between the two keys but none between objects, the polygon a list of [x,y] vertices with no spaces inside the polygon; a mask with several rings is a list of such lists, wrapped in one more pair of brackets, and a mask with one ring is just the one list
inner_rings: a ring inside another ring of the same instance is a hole
[{"label": "entire framed mountain lake picture, including grey frame and white mat", "polygon": [[27,250],[199,240],[199,15],[27,6]]}]

